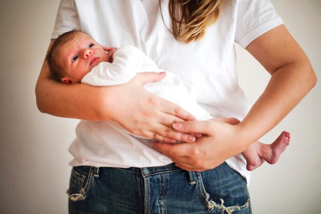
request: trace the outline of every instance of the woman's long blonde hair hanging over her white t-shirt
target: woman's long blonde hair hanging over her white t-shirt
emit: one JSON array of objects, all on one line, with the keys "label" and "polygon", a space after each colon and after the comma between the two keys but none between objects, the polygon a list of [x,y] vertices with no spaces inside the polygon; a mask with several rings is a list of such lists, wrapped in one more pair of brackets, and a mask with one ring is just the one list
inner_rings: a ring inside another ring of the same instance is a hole
[{"label": "woman's long blonde hair hanging over her white t-shirt", "polygon": [[178,41],[188,43],[201,39],[207,27],[217,21],[223,2],[224,0],[170,0],[168,9],[173,31],[168,30]]}]

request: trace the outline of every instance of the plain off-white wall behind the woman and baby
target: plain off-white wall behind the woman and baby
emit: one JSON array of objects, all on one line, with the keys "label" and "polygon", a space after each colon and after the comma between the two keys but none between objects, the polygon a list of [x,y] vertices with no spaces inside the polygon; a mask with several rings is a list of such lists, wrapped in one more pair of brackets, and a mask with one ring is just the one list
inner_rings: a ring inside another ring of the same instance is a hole
[{"label": "plain off-white wall behind the woman and baby", "polygon": [[[321,1],[272,0],[286,27],[321,78]],[[53,30],[58,0],[4,0],[0,8],[0,213],[67,213],[72,159],[68,147],[77,120],[37,110],[35,83]],[[239,83],[251,104],[269,74],[236,45]],[[261,140],[283,130],[291,143],[275,165],[253,171],[253,213],[321,213],[320,84]]]}]

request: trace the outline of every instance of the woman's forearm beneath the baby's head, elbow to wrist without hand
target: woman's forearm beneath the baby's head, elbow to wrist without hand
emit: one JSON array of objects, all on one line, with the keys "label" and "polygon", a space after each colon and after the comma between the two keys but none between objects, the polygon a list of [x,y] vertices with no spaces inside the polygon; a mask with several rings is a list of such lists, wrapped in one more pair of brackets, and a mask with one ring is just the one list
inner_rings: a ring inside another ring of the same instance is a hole
[{"label": "woman's forearm beneath the baby's head, elbow to wrist without hand", "polygon": [[106,120],[101,113],[102,88],[87,84],[66,85],[50,78],[49,68],[44,62],[36,84],[36,100],[39,111],[59,117]]}]

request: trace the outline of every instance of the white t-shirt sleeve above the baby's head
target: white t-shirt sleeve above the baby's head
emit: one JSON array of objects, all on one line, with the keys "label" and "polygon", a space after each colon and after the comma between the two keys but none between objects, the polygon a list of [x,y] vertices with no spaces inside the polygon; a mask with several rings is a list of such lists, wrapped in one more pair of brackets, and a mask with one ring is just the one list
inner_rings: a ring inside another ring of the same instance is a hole
[{"label": "white t-shirt sleeve above the baby's head", "polygon": [[51,39],[72,29],[81,30],[78,12],[74,0],[61,0]]}]

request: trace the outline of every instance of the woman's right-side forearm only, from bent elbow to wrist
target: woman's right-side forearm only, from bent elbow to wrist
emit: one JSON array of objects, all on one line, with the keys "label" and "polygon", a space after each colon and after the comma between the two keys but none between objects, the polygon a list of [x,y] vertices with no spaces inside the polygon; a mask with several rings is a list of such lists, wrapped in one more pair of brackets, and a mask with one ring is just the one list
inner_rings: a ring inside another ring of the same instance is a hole
[{"label": "woman's right-side forearm only, from bent elbow to wrist", "polygon": [[247,143],[278,124],[313,88],[316,76],[309,62],[296,62],[275,71],[250,112],[239,123]]}]

